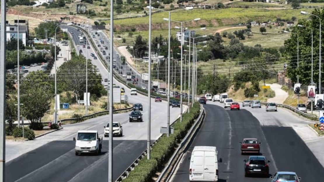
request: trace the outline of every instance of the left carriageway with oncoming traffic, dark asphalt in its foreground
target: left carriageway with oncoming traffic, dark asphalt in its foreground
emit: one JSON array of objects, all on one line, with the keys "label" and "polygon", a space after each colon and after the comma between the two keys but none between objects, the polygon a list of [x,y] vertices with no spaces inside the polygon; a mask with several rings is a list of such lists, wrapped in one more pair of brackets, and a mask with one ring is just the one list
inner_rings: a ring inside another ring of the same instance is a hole
[{"label": "left carriageway with oncoming traffic, dark asphalt in its foreground", "polygon": [[[78,43],[75,28],[67,27]],[[77,49],[83,49],[78,46]],[[95,53],[90,45],[88,54]],[[85,53],[85,51],[83,51]],[[96,54],[96,53],[95,53]],[[98,56],[97,56],[98,57]],[[88,56],[88,58],[91,58]],[[91,60],[99,68],[102,78],[108,72],[98,59]],[[123,85],[114,80],[116,85]],[[129,113],[114,114],[114,122],[123,126],[123,136],[114,137],[114,179],[146,149],[148,99],[143,95],[130,95],[125,88],[128,101],[142,103],[143,123],[129,123]],[[167,102],[154,102],[151,99],[151,142],[160,136],[160,127],[167,123]],[[179,108],[170,108],[170,122],[179,117]],[[186,106],[184,107],[184,111]],[[161,117],[162,116],[162,117]],[[64,129],[44,135],[33,141],[6,142],[6,182],[44,182],[44,181],[102,181],[108,178],[108,137],[104,137],[102,154],[98,156],[75,156],[75,142],[72,140],[78,130],[98,130],[103,135],[108,123],[108,115],[89,119],[82,123],[64,125]],[[17,173],[17,169],[19,172]]]}]

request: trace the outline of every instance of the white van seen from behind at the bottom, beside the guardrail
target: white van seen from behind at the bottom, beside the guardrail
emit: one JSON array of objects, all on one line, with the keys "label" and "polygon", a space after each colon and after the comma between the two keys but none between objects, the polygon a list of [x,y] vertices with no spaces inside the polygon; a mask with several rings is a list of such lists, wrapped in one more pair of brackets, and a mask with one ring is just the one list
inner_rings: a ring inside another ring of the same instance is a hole
[{"label": "white van seen from behind at the bottom, beside the guardrail", "polygon": [[215,146],[195,146],[189,168],[190,181],[218,181],[217,149]]}]

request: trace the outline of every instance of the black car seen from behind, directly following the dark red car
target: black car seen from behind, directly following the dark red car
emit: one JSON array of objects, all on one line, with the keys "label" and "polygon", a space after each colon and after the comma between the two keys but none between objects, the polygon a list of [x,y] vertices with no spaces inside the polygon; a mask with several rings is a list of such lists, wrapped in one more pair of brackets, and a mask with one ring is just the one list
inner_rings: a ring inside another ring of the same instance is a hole
[{"label": "black car seen from behind, directly following the dark red car", "polygon": [[244,160],[245,177],[252,174],[262,174],[269,176],[269,163],[265,156],[249,156],[248,160]]}]

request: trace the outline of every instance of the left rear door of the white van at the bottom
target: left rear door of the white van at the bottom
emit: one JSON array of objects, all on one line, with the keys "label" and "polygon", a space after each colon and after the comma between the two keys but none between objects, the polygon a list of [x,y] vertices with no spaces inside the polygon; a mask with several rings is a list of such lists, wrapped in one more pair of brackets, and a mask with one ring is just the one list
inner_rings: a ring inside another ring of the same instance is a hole
[{"label": "left rear door of the white van at the bottom", "polygon": [[192,161],[192,179],[204,179],[204,151],[195,151]]}]

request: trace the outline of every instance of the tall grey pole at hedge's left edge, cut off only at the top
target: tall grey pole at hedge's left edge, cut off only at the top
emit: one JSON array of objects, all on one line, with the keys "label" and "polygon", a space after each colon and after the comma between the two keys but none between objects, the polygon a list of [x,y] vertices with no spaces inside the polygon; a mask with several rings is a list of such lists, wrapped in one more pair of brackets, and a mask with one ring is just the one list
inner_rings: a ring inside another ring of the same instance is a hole
[{"label": "tall grey pole at hedge's left edge, cut off only at the top", "polygon": [[152,7],[150,0],[149,11],[149,30],[148,30],[148,122],[147,122],[147,159],[150,159],[151,144],[151,24],[152,24]]}]

